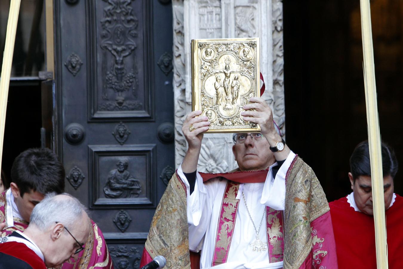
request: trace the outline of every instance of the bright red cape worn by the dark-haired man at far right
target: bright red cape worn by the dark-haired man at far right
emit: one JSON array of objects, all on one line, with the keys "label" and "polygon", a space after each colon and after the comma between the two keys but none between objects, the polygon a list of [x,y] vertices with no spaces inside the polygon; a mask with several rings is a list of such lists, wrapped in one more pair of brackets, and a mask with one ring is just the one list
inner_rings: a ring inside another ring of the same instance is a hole
[{"label": "bright red cape worn by the dark-haired man at far right", "polygon": [[[329,203],[340,268],[376,269],[374,218],[357,212],[343,197]],[[403,268],[403,198],[385,211],[389,268]]]}]

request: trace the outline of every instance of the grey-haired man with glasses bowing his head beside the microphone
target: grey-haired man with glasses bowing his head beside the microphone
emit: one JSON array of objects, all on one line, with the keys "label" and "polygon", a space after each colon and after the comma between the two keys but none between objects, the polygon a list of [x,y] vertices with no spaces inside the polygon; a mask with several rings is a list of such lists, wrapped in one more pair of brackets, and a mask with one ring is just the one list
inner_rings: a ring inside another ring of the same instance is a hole
[{"label": "grey-haired man with glasses bowing his head beside the microphone", "polygon": [[77,198],[48,194],[33,209],[23,233],[0,237],[0,268],[60,268],[83,249],[89,231],[89,217]]}]

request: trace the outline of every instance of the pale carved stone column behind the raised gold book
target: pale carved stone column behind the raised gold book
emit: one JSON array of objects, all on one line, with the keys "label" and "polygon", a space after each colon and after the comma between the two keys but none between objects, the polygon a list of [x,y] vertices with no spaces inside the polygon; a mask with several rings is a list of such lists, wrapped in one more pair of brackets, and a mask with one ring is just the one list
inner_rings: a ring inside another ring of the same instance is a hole
[{"label": "pale carved stone column behind the raised gold book", "polygon": [[[285,135],[283,83],[283,3],[281,0],[172,0],[175,102],[175,164],[187,150],[182,123],[191,112],[190,41],[198,38],[260,38],[260,71],[273,109]],[[232,134],[205,134],[198,171],[224,172],[237,167]]]}]

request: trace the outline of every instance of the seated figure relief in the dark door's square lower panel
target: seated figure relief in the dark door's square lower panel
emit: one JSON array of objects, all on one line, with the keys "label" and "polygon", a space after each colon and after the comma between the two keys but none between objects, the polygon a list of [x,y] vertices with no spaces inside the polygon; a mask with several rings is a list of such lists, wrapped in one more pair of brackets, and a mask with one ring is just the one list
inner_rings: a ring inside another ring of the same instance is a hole
[{"label": "seated figure relief in the dark door's square lower panel", "polygon": [[129,198],[138,197],[141,194],[141,183],[127,171],[128,166],[129,161],[121,158],[116,163],[117,169],[109,172],[104,186],[105,197]]}]

